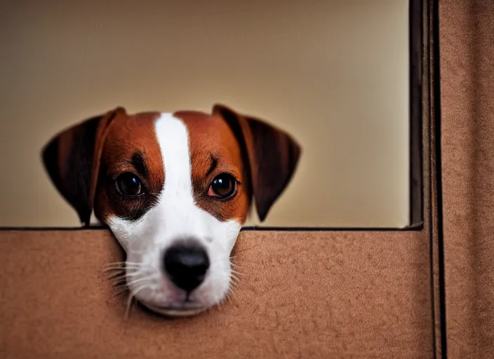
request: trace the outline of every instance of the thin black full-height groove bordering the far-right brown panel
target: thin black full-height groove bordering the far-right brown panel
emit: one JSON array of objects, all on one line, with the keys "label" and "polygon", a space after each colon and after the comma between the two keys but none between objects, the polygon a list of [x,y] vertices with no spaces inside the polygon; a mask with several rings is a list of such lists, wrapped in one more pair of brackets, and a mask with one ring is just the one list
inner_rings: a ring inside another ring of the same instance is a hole
[{"label": "thin black full-height groove bordering the far-right brown panel", "polygon": [[441,358],[448,358],[448,347],[446,337],[446,287],[444,273],[444,245],[443,245],[443,188],[441,167],[441,57],[439,43],[439,0],[430,0],[431,11],[431,35],[430,50],[432,52],[432,101],[434,112],[434,162],[435,162],[435,189],[436,189],[436,240],[438,259],[438,289],[439,289],[439,324],[441,329]]}]

